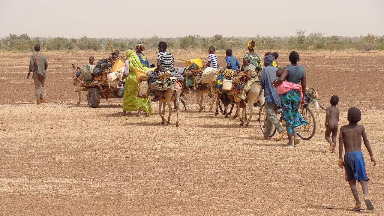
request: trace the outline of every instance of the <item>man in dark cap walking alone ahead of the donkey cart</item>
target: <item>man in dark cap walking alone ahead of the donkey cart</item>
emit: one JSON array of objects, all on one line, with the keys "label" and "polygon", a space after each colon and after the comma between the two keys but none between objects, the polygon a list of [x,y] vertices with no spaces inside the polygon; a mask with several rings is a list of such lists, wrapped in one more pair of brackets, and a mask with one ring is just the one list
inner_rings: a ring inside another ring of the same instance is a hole
[{"label": "man in dark cap walking alone ahead of the donkey cart", "polygon": [[47,56],[40,52],[40,44],[35,44],[35,52],[30,56],[30,64],[28,70],[28,80],[31,73],[33,82],[35,83],[37,104],[45,103],[45,70],[48,68]]}]

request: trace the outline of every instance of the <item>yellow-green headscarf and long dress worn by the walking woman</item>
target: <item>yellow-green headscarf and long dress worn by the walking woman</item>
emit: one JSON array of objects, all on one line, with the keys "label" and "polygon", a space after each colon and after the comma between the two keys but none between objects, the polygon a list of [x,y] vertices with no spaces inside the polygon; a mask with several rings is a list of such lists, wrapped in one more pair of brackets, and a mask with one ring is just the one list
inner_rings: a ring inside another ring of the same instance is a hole
[{"label": "yellow-green headscarf and long dress worn by the walking woman", "polygon": [[140,108],[141,111],[152,114],[150,97],[144,99],[137,97],[139,84],[136,80],[135,68],[144,70],[144,67],[141,65],[139,56],[132,50],[127,50],[126,55],[129,59],[129,74],[125,78],[124,84],[124,111],[136,111]]}]

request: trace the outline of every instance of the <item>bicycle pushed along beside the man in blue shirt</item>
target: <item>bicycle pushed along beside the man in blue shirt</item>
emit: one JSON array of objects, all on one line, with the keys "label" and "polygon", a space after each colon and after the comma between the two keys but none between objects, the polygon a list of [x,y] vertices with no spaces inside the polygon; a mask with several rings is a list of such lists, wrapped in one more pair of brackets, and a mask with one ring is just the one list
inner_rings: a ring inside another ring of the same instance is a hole
[{"label": "bicycle pushed along beside the man in blue shirt", "polygon": [[[311,109],[308,107],[308,103],[305,103],[300,106],[300,115],[308,121],[308,125],[300,125],[296,127],[297,129],[297,135],[302,139],[302,140],[310,140],[316,131],[316,120],[314,119],[314,115],[311,111]],[[280,122],[282,122],[282,126],[285,126],[285,120],[281,120],[281,111],[279,110],[277,113]],[[260,128],[262,132],[264,133],[265,127],[266,127],[266,108],[265,105],[260,107],[260,112],[259,112],[259,123],[260,123]],[[274,136],[276,133],[276,128],[274,125],[272,125],[272,132],[269,135],[269,137]]]}]

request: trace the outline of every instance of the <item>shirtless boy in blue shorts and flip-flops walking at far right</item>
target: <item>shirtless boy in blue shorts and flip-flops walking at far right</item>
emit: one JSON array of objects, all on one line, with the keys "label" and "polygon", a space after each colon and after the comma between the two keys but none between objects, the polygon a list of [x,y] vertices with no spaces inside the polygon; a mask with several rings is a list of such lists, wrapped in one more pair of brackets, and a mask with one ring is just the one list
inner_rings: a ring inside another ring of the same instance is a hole
[{"label": "shirtless boy in blue shorts and flip-flops walking at far right", "polygon": [[[356,180],[360,182],[362,191],[364,193],[364,203],[369,211],[373,210],[373,204],[368,199],[368,181],[369,177],[365,168],[364,158],[361,153],[361,137],[364,141],[364,145],[368,150],[369,156],[373,166],[376,165],[376,160],[373,158],[371,145],[369,144],[365,128],[362,125],[358,125],[361,120],[361,112],[356,107],[351,107],[348,110],[348,125],[344,125],[340,128],[340,140],[339,140],[339,161],[340,168],[345,167],[345,180],[349,182],[353,197],[356,200],[356,206],[352,211],[364,210],[361,208],[361,202],[358,195],[358,189],[356,188]],[[343,161],[343,146],[345,146],[345,155]]]}]

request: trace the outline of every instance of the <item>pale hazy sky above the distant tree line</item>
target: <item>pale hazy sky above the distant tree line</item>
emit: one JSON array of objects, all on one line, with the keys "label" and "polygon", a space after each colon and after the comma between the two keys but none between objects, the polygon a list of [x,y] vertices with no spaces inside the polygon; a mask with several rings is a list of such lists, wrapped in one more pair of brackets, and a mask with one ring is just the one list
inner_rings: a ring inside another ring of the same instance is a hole
[{"label": "pale hazy sky above the distant tree line", "polygon": [[0,37],[384,35],[384,0],[0,0]]}]

